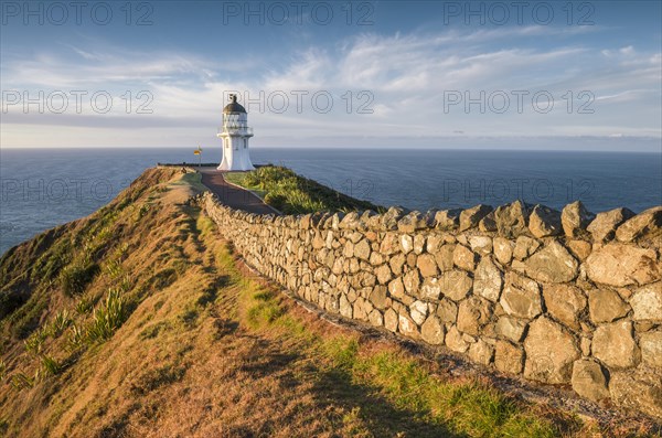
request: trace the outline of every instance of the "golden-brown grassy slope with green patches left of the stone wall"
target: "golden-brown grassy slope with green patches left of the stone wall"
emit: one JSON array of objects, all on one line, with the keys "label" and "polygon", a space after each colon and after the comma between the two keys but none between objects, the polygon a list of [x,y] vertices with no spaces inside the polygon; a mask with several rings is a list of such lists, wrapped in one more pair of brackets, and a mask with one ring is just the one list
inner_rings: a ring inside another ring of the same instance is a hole
[{"label": "golden-brown grassy slope with green patches left of the stone wall", "polygon": [[[186,205],[194,186],[193,175],[147,171],[107,209],[0,260],[6,292],[31,293],[2,320],[0,435],[597,432],[308,313],[250,274],[214,224]],[[98,274],[68,297],[62,273],[87,265]],[[120,322],[107,340],[90,336],[110,291],[122,299]],[[64,310],[68,325],[53,323]],[[23,339],[40,332],[41,348],[29,342],[28,352]],[[32,385],[14,377],[38,371]]]}]

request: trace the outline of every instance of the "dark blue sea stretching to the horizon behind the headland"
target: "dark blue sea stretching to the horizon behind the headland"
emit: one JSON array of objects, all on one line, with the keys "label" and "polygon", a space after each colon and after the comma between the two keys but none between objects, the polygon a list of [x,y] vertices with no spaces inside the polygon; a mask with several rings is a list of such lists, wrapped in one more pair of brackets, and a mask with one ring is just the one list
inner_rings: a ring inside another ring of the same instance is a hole
[{"label": "dark blue sea stretching to the horizon behind the headland", "polygon": [[[594,212],[662,204],[660,153],[254,149],[252,157],[356,197],[421,211],[515,199],[556,209],[580,200]],[[190,148],[0,150],[0,254],[93,213],[147,167],[193,159]],[[203,160],[214,157],[205,150]]]}]

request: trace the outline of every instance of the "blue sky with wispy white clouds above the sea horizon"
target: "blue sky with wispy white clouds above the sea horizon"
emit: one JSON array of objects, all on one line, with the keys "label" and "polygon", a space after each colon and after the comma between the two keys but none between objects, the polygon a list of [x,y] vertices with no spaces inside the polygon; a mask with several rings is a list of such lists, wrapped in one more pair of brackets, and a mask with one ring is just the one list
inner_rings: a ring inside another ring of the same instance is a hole
[{"label": "blue sky with wispy white clouds above the sea horizon", "polygon": [[659,1],[1,3],[2,148],[662,148]]}]

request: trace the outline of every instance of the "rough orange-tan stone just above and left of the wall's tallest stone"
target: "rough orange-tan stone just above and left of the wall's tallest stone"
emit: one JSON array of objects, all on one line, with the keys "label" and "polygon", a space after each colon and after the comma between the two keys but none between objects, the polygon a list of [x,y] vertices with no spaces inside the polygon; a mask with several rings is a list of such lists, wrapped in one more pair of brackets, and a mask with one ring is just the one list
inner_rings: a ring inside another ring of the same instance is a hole
[{"label": "rough orange-tan stone just above and left of the wall's tallest stone", "polygon": [[500,303],[508,314],[519,318],[533,319],[543,312],[538,285],[513,271],[505,275]]}]

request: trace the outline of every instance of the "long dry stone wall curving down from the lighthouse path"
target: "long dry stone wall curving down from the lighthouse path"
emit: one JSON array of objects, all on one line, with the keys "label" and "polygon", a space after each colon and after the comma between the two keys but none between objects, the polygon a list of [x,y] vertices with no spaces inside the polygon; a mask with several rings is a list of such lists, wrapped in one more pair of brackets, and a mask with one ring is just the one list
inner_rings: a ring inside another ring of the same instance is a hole
[{"label": "long dry stone wall curving down from the lighthouse path", "polygon": [[662,206],[260,216],[200,203],[249,265],[329,313],[662,418]]}]

